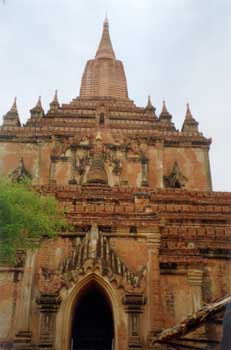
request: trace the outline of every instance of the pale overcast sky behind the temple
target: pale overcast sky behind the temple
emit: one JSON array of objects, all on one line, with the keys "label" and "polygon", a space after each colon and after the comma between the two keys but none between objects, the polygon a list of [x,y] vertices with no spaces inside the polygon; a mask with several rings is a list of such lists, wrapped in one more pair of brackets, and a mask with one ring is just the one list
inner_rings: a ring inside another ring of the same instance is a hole
[{"label": "pale overcast sky behind the temple", "polygon": [[[47,110],[79,94],[105,12],[129,97],[163,98],[178,129],[187,101],[213,140],[214,190],[231,190],[231,0],[0,0],[0,117],[17,96],[25,122],[38,96]],[[1,119],[0,119],[1,121]]]}]

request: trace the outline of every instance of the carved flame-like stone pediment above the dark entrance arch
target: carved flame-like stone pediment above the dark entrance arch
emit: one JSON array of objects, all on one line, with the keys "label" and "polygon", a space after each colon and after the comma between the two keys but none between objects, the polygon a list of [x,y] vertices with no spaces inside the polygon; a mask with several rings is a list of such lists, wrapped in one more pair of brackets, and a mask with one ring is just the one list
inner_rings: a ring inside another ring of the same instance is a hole
[{"label": "carved flame-like stone pediment above the dark entrance arch", "polygon": [[110,237],[93,224],[85,236],[76,237],[71,254],[57,270],[41,267],[39,288],[41,293],[57,293],[62,287],[69,289],[89,273],[100,273],[126,292],[140,292],[144,288],[146,266],[139,272],[131,271],[112,249]]}]

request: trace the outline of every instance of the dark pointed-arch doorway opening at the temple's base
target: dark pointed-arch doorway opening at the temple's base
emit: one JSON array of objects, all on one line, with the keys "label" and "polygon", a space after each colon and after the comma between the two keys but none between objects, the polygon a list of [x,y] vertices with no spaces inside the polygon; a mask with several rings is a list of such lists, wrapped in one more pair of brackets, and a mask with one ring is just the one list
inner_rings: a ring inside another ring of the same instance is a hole
[{"label": "dark pointed-arch doorway opening at the temple's base", "polygon": [[98,286],[91,286],[77,304],[72,328],[72,350],[113,350],[111,307]]}]

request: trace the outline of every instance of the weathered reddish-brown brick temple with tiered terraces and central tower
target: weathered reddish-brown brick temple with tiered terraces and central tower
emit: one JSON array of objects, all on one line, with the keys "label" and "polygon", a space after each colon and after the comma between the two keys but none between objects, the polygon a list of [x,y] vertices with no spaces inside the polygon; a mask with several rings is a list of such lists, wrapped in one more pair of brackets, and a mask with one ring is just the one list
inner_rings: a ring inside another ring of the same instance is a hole
[{"label": "weathered reddish-brown brick temple with tiered terraces and central tower", "polygon": [[[107,19],[79,97],[0,127],[0,173],[30,177],[74,229],[0,267],[7,349],[166,349],[166,328],[231,292],[231,193],[212,191],[211,140],[189,105],[181,131],[129,98]],[[45,236],[44,232],[44,236]],[[219,325],[191,337],[217,339]],[[1,348],[1,345],[0,345]]]}]

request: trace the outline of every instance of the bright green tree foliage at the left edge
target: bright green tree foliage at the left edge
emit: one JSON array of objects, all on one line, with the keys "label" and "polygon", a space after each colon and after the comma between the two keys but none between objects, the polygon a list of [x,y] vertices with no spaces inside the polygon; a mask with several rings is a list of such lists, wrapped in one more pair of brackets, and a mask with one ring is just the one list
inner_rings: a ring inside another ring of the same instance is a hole
[{"label": "bright green tree foliage at the left edge", "polygon": [[37,246],[67,225],[58,202],[32,191],[30,184],[0,178],[0,260],[16,262],[18,249]]}]

